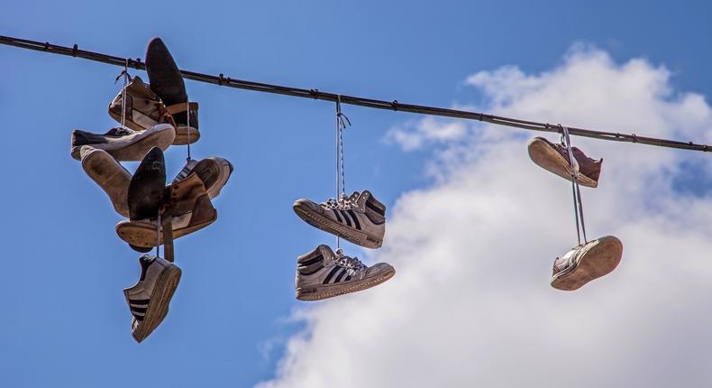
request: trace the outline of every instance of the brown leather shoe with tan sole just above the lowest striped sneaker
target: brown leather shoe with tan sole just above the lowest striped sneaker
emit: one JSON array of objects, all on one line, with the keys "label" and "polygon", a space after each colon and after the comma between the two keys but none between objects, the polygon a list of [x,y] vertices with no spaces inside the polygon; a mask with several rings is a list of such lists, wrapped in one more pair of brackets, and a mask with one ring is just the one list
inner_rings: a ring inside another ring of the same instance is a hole
[{"label": "brown leather shoe with tan sole just above the lowest striped sneaker", "polygon": [[[207,194],[196,199],[195,207],[180,216],[172,218],[173,238],[189,235],[215,222],[217,210],[213,208]],[[156,246],[158,225],[156,217],[141,220],[123,220],[116,224],[116,234],[132,247],[151,248]],[[160,234],[163,244],[163,234]],[[135,248],[134,248],[135,249]]]}]

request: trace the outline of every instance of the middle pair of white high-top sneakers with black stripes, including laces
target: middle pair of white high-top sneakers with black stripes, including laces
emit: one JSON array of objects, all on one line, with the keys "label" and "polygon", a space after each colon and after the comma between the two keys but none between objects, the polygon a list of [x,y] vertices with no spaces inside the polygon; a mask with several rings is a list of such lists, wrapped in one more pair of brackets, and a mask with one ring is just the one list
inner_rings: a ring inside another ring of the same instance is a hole
[{"label": "middle pair of white high-top sneakers with black stripes, including laces", "polygon": [[307,224],[336,236],[336,252],[319,245],[297,257],[295,292],[298,300],[324,300],[345,293],[362,291],[388,281],[396,270],[388,263],[366,266],[356,257],[343,254],[339,238],[367,248],[383,245],[386,233],[386,206],[369,190],[346,196],[343,171],[343,130],[349,121],[336,101],[336,199],[316,203],[297,199],[292,205]]}]

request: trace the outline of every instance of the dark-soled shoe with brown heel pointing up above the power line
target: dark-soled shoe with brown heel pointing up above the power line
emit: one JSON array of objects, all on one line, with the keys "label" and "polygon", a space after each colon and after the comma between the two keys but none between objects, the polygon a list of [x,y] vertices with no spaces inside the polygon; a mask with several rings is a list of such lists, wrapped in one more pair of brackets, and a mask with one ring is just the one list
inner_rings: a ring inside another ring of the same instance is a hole
[{"label": "dark-soled shoe with brown heel pointing up above the power line", "polygon": [[[197,103],[187,102],[183,76],[180,75],[168,47],[160,38],[153,38],[146,49],[146,72],[149,75],[151,90],[160,97],[176,122],[176,140],[173,143],[187,144],[188,137],[190,143],[196,143],[200,138],[197,130]],[[188,109],[190,123],[187,122]]]}]

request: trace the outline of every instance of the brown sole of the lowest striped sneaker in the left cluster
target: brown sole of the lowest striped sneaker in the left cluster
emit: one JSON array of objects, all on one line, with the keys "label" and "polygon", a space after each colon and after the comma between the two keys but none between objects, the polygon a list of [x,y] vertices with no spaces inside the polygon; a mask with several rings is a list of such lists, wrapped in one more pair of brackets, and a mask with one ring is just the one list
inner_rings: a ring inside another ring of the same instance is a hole
[{"label": "brown sole of the lowest striped sneaker in the left cluster", "polygon": [[[154,292],[151,295],[151,301],[146,309],[146,315],[143,316],[138,330],[132,332],[132,336],[137,342],[141,343],[146,337],[149,337],[168,315],[169,303],[178,288],[180,275],[180,268],[176,265],[170,265],[160,273]],[[123,294],[126,300],[129,300],[128,292],[124,290]]]}]

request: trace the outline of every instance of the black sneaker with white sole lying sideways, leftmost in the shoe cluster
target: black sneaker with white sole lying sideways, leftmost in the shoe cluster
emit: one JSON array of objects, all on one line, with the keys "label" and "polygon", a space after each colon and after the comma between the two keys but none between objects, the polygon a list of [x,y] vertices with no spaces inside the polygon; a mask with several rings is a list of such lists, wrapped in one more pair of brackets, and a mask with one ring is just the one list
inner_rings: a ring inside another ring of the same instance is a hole
[{"label": "black sneaker with white sole lying sideways, leftmost in the shoe cluster", "polygon": [[161,150],[169,148],[176,133],[169,124],[154,125],[143,132],[134,132],[128,128],[113,128],[105,134],[72,131],[72,157],[80,160],[81,147],[91,145],[94,148],[109,152],[120,162],[141,161],[143,155],[153,147]]}]

